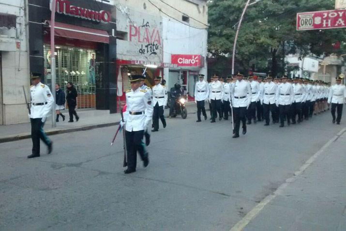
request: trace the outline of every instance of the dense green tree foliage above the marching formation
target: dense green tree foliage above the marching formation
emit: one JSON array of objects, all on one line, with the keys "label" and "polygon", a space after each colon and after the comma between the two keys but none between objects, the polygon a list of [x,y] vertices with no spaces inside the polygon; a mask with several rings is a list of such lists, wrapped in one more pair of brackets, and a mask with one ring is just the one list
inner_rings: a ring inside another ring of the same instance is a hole
[{"label": "dense green tree foliage above the marching formation", "polygon": [[[230,57],[246,0],[212,0],[209,3],[208,50]],[[335,53],[333,44],[346,42],[345,29],[296,31],[299,12],[332,10],[334,0],[261,0],[248,7],[238,37],[236,63],[246,71],[284,72],[286,54]],[[339,51],[342,52],[342,51]]]}]

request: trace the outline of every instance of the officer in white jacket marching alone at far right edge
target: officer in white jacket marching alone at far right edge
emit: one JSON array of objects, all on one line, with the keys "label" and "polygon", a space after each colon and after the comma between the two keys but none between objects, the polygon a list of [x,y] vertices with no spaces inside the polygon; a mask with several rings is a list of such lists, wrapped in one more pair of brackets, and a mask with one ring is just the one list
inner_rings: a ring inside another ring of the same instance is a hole
[{"label": "officer in white jacket marching alone at far right edge", "polygon": [[346,102],[346,87],[341,84],[342,76],[343,75],[336,77],[336,84],[331,86],[328,97],[328,103],[331,103],[331,116],[333,117],[333,123],[335,123],[335,109],[337,109],[336,124],[340,124],[343,106]]}]

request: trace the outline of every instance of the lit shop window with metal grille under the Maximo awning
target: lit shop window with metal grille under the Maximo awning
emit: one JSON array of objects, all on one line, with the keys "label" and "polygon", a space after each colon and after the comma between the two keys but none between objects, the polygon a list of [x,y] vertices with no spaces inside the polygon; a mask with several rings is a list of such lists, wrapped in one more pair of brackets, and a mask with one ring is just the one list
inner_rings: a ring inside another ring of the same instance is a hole
[{"label": "lit shop window with metal grille under the Maximo awning", "polygon": [[[44,46],[45,84],[51,87],[50,45]],[[78,92],[77,108],[95,108],[95,50],[56,46],[56,83],[66,92],[67,82],[73,82]]]}]

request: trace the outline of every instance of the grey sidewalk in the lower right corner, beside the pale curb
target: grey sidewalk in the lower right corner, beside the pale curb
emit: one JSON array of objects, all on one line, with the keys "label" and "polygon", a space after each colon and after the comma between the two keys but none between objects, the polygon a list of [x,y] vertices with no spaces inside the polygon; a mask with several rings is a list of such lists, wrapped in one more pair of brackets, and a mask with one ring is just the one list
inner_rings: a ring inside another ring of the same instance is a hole
[{"label": "grey sidewalk in the lower right corner, beside the pale curb", "polygon": [[[344,130],[345,131],[345,130]],[[346,230],[346,132],[278,190],[244,231]]]}]

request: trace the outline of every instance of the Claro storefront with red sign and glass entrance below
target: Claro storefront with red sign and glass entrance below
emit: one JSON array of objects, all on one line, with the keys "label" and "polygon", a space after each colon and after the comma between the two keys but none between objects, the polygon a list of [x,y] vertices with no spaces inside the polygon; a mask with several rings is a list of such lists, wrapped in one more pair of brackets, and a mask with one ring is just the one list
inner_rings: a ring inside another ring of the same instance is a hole
[{"label": "Claro storefront with red sign and glass entrance below", "polygon": [[196,82],[199,80],[201,68],[204,67],[205,58],[202,55],[172,54],[171,62],[177,67],[169,68],[169,86],[180,83],[184,94],[188,94],[189,101],[194,101]]}]

